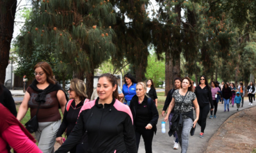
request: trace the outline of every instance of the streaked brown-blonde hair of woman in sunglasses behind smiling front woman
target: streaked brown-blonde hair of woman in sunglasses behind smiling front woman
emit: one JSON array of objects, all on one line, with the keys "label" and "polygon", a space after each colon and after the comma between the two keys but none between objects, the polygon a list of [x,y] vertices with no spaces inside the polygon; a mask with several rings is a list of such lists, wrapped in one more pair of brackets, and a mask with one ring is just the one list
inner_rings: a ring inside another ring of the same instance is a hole
[{"label": "streaked brown-blonde hair of woman in sunglasses behind smiling front woman", "polygon": [[70,86],[72,85],[72,90],[76,92],[76,95],[79,96],[81,100],[86,99],[86,85],[83,80],[79,80],[78,78],[73,78],[70,81]]}]

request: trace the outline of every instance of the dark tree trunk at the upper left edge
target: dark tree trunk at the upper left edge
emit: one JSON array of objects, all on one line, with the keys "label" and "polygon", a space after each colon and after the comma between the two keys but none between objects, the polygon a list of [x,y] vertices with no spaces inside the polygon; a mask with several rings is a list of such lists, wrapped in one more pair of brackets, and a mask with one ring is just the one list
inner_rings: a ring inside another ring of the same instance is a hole
[{"label": "dark tree trunk at the upper left edge", "polygon": [[0,82],[4,84],[12,42],[17,1],[0,1]]}]

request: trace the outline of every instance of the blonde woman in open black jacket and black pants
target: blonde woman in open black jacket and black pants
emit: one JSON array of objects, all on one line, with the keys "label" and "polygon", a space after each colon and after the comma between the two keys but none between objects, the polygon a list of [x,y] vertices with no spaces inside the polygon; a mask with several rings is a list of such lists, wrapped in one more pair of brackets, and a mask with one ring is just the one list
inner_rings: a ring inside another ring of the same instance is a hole
[{"label": "blonde woman in open black jacket and black pants", "polygon": [[136,95],[131,100],[130,109],[134,120],[137,150],[142,135],[146,153],[150,153],[152,152],[153,136],[157,131],[156,124],[159,114],[154,101],[147,97],[146,91],[147,87],[143,82],[136,85]]}]

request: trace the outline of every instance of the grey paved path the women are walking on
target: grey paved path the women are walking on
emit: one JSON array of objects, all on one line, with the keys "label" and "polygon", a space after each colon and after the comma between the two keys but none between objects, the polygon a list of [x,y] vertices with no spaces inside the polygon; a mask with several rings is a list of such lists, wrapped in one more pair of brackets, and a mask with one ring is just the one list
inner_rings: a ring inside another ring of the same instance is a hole
[{"label": "grey paved path the women are walking on", "polygon": [[[254,101],[253,101],[254,102]],[[251,105],[248,105],[249,101],[244,101],[243,108],[239,108],[239,110],[243,110],[245,108],[252,107]],[[255,105],[255,102],[253,103],[253,106]],[[236,106],[230,107],[230,112],[224,112],[224,104],[219,103],[218,104],[218,112],[216,114],[217,119],[209,119],[209,115],[207,117],[207,123],[204,133],[204,138],[199,138],[200,133],[200,126],[196,124],[196,131],[194,136],[189,135],[189,148],[188,153],[201,153],[205,152],[208,142],[211,139],[211,137],[218,131],[221,124],[225,122],[225,120],[228,119],[231,115],[238,112]],[[161,122],[163,121],[163,117],[159,117],[158,123],[157,123],[157,133],[154,135],[153,142],[152,142],[152,150],[154,153],[160,153],[160,152],[173,152],[178,153],[180,152],[180,146],[178,150],[173,150],[173,136],[168,136],[169,131],[169,125],[168,122],[166,123],[166,133],[161,133]],[[139,153],[145,152],[144,142],[143,138],[141,136],[140,141],[140,147],[139,147]]]}]

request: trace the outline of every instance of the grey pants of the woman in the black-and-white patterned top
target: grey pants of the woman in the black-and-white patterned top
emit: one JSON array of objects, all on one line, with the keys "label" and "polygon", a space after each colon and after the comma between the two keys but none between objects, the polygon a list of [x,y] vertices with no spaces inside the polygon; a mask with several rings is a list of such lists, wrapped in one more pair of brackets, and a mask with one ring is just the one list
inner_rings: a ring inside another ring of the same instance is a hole
[{"label": "grey pants of the woman in the black-and-white patterned top", "polygon": [[177,131],[177,134],[179,137],[179,143],[181,147],[181,153],[186,153],[188,150],[188,138],[189,138],[189,134],[192,126],[193,126],[192,119],[183,119],[183,126],[182,128],[179,128],[179,131]]}]

